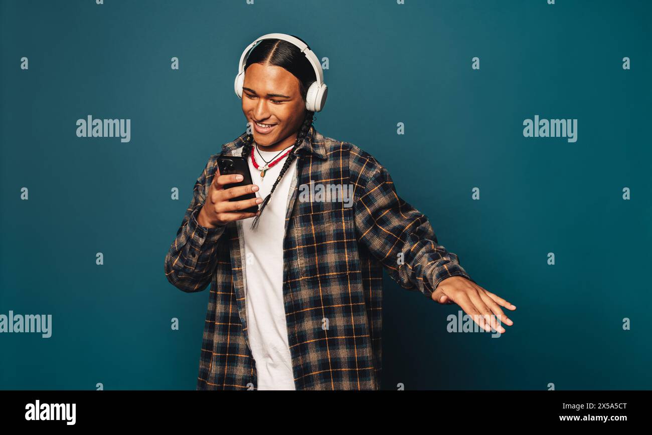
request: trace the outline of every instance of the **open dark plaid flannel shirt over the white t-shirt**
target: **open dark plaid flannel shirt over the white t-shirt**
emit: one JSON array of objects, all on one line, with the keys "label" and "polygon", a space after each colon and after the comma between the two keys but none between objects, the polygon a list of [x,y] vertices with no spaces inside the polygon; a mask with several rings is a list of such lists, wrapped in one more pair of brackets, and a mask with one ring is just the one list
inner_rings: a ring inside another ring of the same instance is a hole
[{"label": "open dark plaid flannel shirt over the white t-shirt", "polygon": [[[220,154],[239,156],[246,139],[243,133],[222,145]],[[304,154],[288,195],[283,301],[295,387],[379,389],[383,267],[396,283],[428,298],[443,279],[473,280],[454,253],[437,246],[426,216],[398,197],[387,169],[370,154],[314,126],[293,152]],[[242,221],[212,229],[197,221],[218,156],[209,158],[194,184],[165,274],[184,292],[211,284],[197,389],[256,389]],[[353,206],[297,201],[297,186],[311,181],[352,184]],[[249,291],[256,291],[253,286]]]}]

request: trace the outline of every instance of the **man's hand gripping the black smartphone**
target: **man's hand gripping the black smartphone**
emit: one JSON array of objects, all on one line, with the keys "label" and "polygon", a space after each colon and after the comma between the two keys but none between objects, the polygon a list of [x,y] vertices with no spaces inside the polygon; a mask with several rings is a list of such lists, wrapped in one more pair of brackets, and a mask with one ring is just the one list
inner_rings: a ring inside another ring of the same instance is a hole
[{"label": "man's hand gripping the black smartphone", "polygon": [[249,213],[239,210],[262,203],[263,200],[261,198],[229,201],[231,198],[241,197],[246,193],[258,191],[258,186],[256,186],[256,184],[224,189],[225,184],[237,183],[242,180],[242,175],[220,175],[220,169],[216,168],[215,176],[213,176],[213,182],[209,187],[206,201],[204,201],[203,207],[201,207],[200,214],[197,218],[198,223],[202,227],[215,228],[220,225],[226,225],[231,221],[253,218],[260,214],[260,212]]}]

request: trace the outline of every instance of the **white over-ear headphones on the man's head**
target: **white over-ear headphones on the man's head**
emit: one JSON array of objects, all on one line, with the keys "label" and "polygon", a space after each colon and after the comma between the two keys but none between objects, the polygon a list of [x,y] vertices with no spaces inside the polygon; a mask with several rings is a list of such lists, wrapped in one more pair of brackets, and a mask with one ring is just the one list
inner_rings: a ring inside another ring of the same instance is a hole
[{"label": "white over-ear headphones on the man's head", "polygon": [[306,55],[306,58],[308,58],[308,61],[312,64],[312,68],[314,68],[317,77],[317,81],[312,83],[308,88],[308,93],[306,94],[306,109],[311,112],[321,111],[326,103],[328,87],[326,86],[326,83],[324,83],[323,71],[321,70],[319,59],[317,59],[315,53],[313,53],[310,47],[308,47],[308,44],[304,43],[299,38],[286,35],[285,33],[268,33],[267,35],[263,35],[256,39],[254,42],[249,44],[246,49],[244,49],[243,55],[240,57],[240,63],[238,64],[238,75],[235,76],[235,94],[238,98],[243,98],[244,65],[246,64],[246,58],[251,49],[264,39],[282,39],[291,42],[301,50],[301,53]]}]

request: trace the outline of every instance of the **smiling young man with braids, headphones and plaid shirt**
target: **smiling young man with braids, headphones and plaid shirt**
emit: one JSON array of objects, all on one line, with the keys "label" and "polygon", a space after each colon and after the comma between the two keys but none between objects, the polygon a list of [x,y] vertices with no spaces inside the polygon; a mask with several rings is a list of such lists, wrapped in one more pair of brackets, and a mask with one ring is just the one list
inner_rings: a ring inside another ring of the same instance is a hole
[{"label": "smiling young man with braids, headphones and plaid shirt", "polygon": [[516,307],[437,246],[385,167],[312,126],[327,91],[303,40],[263,35],[239,66],[253,134],[220,155],[247,156],[254,184],[225,189],[241,178],[220,175],[211,156],[165,261],[185,292],[211,283],[197,389],[379,389],[383,267],[485,330],[505,331],[494,315],[512,324],[501,306]]}]

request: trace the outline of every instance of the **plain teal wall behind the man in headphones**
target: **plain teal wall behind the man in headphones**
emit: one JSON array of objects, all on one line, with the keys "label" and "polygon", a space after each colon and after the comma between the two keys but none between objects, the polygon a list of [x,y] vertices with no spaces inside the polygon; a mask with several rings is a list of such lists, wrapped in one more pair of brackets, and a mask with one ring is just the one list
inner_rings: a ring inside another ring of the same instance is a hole
[{"label": "plain teal wall behind the man in headphones", "polygon": [[[50,339],[0,334],[1,389],[195,388],[209,294],[171,286],[164,257],[246,128],[237,60],[274,32],[329,58],[317,130],[376,156],[517,307],[499,339],[448,333],[456,305],[385,275],[383,388],[652,388],[652,3],[104,3],[0,1],[0,314],[53,316]],[[524,137],[537,114],[578,119],[578,141]],[[87,115],[131,119],[131,141],[76,137]]]}]

